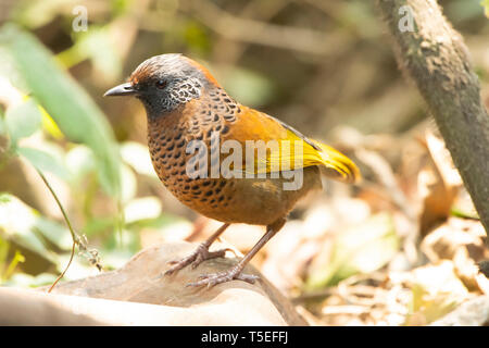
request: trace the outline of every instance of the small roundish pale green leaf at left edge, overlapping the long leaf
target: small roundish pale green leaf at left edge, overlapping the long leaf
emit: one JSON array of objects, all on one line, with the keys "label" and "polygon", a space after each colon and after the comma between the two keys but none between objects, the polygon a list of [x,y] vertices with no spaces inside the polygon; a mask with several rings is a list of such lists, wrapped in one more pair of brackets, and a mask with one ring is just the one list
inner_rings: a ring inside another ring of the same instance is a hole
[{"label": "small roundish pale green leaf at left edge, overlapping the long leaf", "polygon": [[41,127],[41,120],[39,108],[33,99],[7,110],[5,128],[12,144],[33,135]]}]

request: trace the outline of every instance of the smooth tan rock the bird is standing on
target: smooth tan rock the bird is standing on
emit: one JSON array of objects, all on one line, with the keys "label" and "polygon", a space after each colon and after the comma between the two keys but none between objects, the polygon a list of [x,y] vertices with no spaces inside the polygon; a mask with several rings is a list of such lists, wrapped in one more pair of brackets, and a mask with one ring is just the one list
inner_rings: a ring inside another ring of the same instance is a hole
[{"label": "smooth tan rock the bird is standing on", "polygon": [[[293,306],[263,276],[255,284],[233,281],[209,289],[186,287],[200,274],[227,270],[237,262],[236,259],[208,260],[197,269],[188,266],[172,276],[163,275],[170,260],[179,259],[196,247],[189,243],[151,247],[133,257],[120,270],[59,284],[45,296],[54,302],[61,301],[64,309],[71,308],[105,324],[306,325]],[[216,244],[214,248],[220,246]],[[252,266],[247,266],[244,272],[260,275]],[[100,300],[95,299],[111,301],[98,302]],[[104,306],[111,310],[102,310]],[[121,309],[114,312],[117,306]],[[135,310],[135,306],[140,306],[140,311]]]}]

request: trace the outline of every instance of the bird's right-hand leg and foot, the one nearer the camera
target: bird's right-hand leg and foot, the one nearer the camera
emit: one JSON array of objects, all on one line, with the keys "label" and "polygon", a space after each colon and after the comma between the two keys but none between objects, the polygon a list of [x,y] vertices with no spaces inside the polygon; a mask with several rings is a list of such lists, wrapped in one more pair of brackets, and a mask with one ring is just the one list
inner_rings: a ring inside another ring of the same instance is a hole
[{"label": "bird's right-hand leg and foot, the one nearer the camera", "polygon": [[268,225],[266,227],[266,233],[263,235],[263,237],[254,245],[254,247],[248,252],[244,258],[238,262],[233,269],[227,270],[225,272],[220,273],[211,273],[211,274],[203,274],[199,276],[199,279],[195,283],[189,283],[187,286],[202,286],[206,285],[208,287],[229,282],[233,279],[239,279],[244,281],[248,283],[253,284],[254,281],[259,279],[260,277],[258,275],[253,274],[243,274],[241,273],[244,266],[250,262],[250,260],[256,254],[256,252],[260,251],[260,249],[269,240],[272,239],[275,234],[280,231],[281,226],[284,226],[286,220],[280,219],[277,220],[275,223]]}]

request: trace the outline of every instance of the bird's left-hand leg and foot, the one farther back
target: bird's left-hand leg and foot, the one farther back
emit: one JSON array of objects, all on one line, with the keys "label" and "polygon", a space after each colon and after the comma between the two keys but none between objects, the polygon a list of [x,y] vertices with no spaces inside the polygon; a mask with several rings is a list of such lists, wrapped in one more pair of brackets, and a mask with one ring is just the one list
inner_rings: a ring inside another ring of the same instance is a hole
[{"label": "bird's left-hand leg and foot, the one farther back", "polygon": [[170,261],[168,263],[172,264],[172,266],[165,272],[165,275],[175,273],[176,271],[181,270],[183,268],[189,265],[190,263],[195,269],[202,261],[224,257],[226,251],[230,249],[226,248],[216,251],[209,251],[209,248],[214,243],[214,240],[217,239],[217,237],[222,235],[224,231],[226,231],[227,227],[229,227],[229,224],[222,225],[211,237],[208,238],[208,240],[201,243],[199,247],[197,247],[197,249],[193,250],[193,252],[190,253],[188,257],[183,258],[181,260]]}]

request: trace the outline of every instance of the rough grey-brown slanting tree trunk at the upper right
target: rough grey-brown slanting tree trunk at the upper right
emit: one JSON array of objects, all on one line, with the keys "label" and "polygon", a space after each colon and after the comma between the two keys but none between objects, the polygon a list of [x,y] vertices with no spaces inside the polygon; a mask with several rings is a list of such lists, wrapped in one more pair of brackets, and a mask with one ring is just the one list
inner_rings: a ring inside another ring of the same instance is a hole
[{"label": "rough grey-brown slanting tree trunk at the upper right", "polygon": [[429,105],[489,234],[489,115],[467,48],[435,0],[378,0],[378,7],[398,63]]}]

